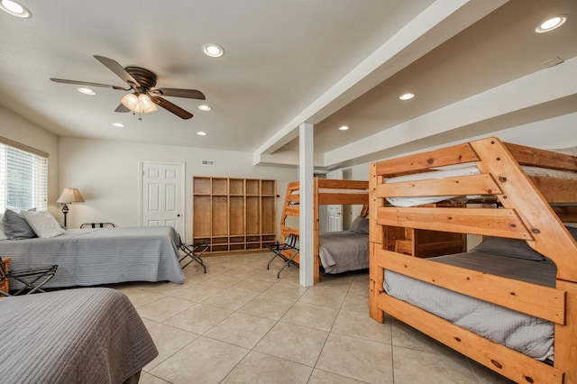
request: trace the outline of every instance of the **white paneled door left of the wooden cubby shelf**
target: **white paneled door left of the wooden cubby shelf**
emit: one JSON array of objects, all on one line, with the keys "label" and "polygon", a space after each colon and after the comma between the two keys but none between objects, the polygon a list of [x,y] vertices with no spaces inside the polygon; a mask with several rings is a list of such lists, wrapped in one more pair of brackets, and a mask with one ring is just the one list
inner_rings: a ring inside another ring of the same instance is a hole
[{"label": "white paneled door left of the wooden cubby shelf", "polygon": [[141,225],[170,225],[184,238],[184,163],[141,162]]}]

